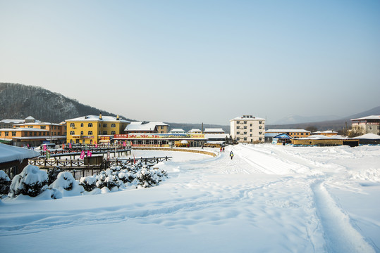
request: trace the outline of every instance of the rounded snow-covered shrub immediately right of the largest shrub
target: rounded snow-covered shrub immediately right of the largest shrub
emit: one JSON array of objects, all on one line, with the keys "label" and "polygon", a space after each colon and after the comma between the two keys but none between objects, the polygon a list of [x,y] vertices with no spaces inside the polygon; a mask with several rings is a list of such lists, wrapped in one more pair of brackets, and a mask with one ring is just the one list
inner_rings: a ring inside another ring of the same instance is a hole
[{"label": "rounded snow-covered shrub immediately right of the largest shrub", "polygon": [[56,188],[63,196],[80,195],[80,193],[85,191],[74,179],[73,174],[68,171],[60,172],[56,181],[51,183],[50,188]]}]

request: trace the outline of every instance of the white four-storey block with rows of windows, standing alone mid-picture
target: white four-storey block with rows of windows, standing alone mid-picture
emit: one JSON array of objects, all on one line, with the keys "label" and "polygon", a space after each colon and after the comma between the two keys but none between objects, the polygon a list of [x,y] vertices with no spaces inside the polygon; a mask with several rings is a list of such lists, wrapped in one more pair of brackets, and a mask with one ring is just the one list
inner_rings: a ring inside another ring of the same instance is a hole
[{"label": "white four-storey block with rows of windows, standing alone mid-picture", "polygon": [[230,120],[231,137],[239,143],[264,143],[265,119],[243,115]]}]

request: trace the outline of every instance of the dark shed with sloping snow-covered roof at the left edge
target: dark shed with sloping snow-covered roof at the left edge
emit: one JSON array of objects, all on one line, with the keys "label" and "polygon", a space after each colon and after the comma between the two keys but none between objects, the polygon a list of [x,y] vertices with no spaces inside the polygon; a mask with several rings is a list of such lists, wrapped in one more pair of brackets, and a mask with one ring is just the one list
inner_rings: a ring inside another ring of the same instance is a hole
[{"label": "dark shed with sloping snow-covered roof at the left edge", "polygon": [[39,153],[27,148],[19,148],[0,143],[0,169],[13,179],[27,166],[29,158],[38,157]]}]

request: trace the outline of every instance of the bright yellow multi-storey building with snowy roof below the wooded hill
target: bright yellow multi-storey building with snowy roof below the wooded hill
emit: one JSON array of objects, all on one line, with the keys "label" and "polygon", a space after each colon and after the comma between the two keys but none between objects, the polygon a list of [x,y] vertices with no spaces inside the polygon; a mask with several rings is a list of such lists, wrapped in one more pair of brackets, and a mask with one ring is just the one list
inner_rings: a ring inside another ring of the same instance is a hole
[{"label": "bright yellow multi-storey building with snowy roof below the wooded hill", "polygon": [[67,143],[109,143],[115,134],[123,134],[130,122],[120,117],[87,115],[67,119]]}]

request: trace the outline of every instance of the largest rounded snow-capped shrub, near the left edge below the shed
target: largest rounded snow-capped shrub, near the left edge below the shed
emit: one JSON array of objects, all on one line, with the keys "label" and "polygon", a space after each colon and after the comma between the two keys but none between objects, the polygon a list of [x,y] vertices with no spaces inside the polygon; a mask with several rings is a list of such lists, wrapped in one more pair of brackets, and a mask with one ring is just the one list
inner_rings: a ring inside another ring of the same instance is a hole
[{"label": "largest rounded snow-capped shrub, near the left edge below the shed", "polygon": [[27,165],[23,171],[12,179],[9,197],[20,194],[35,197],[48,188],[48,176],[35,165]]}]

